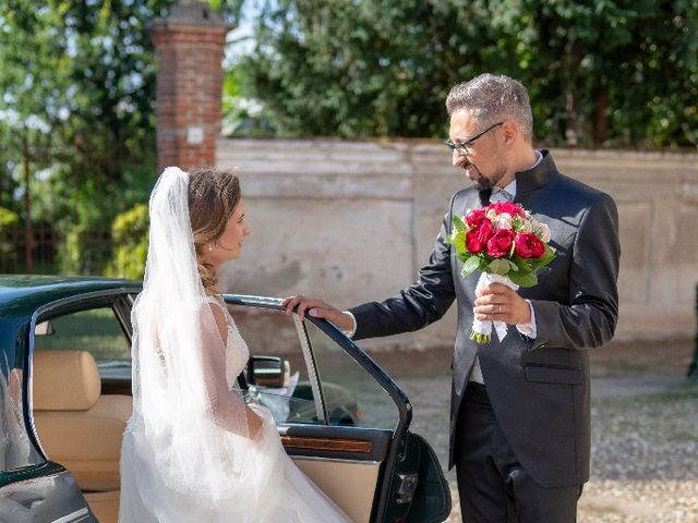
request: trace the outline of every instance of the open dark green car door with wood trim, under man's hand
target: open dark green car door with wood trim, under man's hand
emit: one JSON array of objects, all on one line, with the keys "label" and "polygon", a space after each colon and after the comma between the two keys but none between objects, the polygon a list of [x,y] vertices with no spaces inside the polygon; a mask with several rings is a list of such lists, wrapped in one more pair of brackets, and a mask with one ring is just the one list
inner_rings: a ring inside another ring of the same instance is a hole
[{"label": "open dark green car door with wood trim, under man's hand", "polygon": [[248,401],[272,410],[287,452],[325,494],[357,523],[448,518],[448,484],[409,431],[409,400],[364,351],[326,320],[288,317],[280,300],[225,300],[250,348]]}]

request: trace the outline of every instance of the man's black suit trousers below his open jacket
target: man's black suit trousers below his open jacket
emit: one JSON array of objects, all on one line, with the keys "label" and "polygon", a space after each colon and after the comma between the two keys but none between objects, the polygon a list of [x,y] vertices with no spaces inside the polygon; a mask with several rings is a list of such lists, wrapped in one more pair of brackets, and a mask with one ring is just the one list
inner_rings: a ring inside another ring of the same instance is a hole
[{"label": "man's black suit trousers below his open jacket", "polygon": [[500,428],[483,385],[468,384],[456,430],[456,476],[464,523],[577,520],[582,486],[545,488],[528,475]]}]

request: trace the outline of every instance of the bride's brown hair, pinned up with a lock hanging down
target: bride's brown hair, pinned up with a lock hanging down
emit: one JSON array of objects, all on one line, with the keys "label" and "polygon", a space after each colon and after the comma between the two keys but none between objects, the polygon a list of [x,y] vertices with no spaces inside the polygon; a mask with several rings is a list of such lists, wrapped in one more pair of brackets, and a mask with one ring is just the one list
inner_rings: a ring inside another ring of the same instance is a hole
[{"label": "bride's brown hair, pinned up with a lock hanging down", "polygon": [[234,169],[202,168],[189,171],[189,219],[196,248],[201,282],[207,294],[218,293],[218,277],[201,254],[216,242],[240,202],[240,181]]}]

